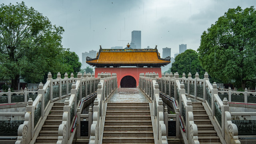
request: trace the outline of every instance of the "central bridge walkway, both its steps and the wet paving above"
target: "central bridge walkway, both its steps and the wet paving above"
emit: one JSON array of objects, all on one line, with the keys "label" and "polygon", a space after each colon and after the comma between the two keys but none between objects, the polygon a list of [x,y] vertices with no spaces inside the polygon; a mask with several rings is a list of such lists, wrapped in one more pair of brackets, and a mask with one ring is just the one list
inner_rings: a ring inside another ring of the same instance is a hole
[{"label": "central bridge walkway, both its steps and the wet paving above", "polygon": [[138,88],[118,88],[107,102],[102,143],[154,144],[148,102]]}]

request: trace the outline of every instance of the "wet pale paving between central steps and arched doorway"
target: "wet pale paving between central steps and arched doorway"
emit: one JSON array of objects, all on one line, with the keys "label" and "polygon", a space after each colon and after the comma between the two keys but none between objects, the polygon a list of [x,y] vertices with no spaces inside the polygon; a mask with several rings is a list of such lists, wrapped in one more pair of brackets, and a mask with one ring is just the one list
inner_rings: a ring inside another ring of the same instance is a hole
[{"label": "wet pale paving between central steps and arched doorway", "polygon": [[139,88],[118,88],[108,102],[148,102]]}]

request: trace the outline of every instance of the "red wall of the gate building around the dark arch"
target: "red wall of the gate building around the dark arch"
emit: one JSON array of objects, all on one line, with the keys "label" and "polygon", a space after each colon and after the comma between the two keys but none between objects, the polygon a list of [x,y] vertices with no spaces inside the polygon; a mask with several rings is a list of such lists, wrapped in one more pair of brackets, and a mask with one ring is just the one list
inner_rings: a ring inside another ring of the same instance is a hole
[{"label": "red wall of the gate building around the dark arch", "polygon": [[116,73],[118,88],[124,76],[134,77],[137,86],[139,85],[140,73],[155,72],[158,73],[159,77],[162,77],[161,68],[95,68],[95,77],[98,77],[98,73],[101,72]]}]

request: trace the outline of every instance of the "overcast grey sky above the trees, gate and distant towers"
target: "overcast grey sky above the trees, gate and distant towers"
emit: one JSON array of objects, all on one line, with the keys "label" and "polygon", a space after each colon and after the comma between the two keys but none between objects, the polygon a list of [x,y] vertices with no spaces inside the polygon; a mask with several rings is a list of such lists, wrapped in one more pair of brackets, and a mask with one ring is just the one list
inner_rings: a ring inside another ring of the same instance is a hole
[{"label": "overcast grey sky above the trees, gate and distant towers", "polygon": [[[179,44],[197,50],[200,36],[228,8],[255,6],[255,0],[23,0],[52,24],[65,30],[64,48],[82,52],[123,46],[131,40],[133,30],[141,30],[141,46],[172,48]],[[1,0],[9,4],[20,0]],[[161,54],[162,55],[162,54]]]}]

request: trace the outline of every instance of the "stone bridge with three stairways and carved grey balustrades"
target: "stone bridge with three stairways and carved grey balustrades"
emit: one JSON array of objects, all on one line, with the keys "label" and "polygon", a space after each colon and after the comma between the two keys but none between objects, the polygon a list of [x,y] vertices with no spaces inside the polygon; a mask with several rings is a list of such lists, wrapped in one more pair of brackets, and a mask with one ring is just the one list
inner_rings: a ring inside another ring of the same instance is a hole
[{"label": "stone bridge with three stairways and carved grey balustrades", "polygon": [[218,90],[204,79],[139,74],[138,88],[117,75],[65,74],[38,90],[0,93],[0,143],[240,144],[255,142],[256,93]]}]

